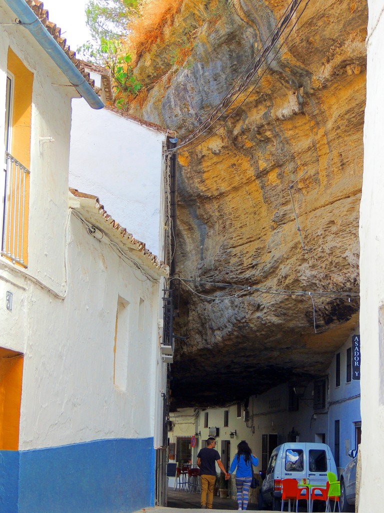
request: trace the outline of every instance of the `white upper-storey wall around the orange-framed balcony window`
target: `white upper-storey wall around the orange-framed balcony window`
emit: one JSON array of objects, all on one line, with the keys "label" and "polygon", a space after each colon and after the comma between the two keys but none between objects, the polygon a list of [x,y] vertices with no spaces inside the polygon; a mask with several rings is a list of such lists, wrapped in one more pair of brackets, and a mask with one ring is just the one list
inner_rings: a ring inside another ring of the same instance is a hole
[{"label": "white upper-storey wall around the orange-framed balcony window", "polygon": [[[65,279],[64,238],[68,213],[70,95],[77,95],[77,92],[74,88],[52,85],[67,85],[68,80],[27,31],[24,37],[20,37],[20,27],[11,25],[14,17],[10,9],[3,4],[0,5],[0,21],[5,24],[2,25],[0,37],[2,97],[5,98],[9,46],[34,73],[27,274],[62,293]],[[4,121],[5,101],[0,103],[0,133],[3,134]],[[40,147],[39,137],[46,136],[54,137],[55,142]],[[0,150],[4,154],[3,136]],[[54,172],[51,172],[53,169]],[[12,271],[10,267],[12,266],[8,266],[5,260],[0,260],[0,346],[25,352],[28,324],[24,291],[29,287],[29,282],[24,271]],[[10,289],[10,285],[13,285],[16,292],[11,314],[5,310],[5,293]]]}]

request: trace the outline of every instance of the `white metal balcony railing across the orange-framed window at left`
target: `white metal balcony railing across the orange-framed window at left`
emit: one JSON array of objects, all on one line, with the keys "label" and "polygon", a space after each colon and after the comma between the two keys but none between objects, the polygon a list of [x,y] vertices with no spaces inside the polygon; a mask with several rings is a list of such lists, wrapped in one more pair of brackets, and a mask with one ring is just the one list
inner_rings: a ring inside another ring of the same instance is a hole
[{"label": "white metal balcony railing across the orange-framed window at left", "polygon": [[6,151],[5,173],[2,255],[27,267],[24,259],[28,230],[26,190],[30,171]]}]

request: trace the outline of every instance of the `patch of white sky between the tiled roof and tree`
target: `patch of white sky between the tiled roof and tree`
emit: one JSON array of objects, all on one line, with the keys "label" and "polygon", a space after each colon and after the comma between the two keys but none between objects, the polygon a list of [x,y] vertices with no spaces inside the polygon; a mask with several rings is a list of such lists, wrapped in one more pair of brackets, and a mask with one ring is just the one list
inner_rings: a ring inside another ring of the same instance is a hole
[{"label": "patch of white sky between the tiled roof and tree", "polygon": [[88,0],[44,0],[49,11],[49,21],[61,28],[71,50],[87,43],[91,36],[86,26],[86,4]]}]

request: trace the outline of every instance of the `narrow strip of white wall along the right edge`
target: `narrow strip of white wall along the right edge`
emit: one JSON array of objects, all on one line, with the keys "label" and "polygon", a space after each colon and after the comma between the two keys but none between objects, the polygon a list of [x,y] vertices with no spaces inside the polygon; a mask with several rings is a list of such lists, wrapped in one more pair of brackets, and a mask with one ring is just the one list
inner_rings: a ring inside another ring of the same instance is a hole
[{"label": "narrow strip of white wall along the right edge", "polygon": [[368,0],[367,105],[360,205],[361,485],[359,513],[382,510],[384,485],[384,2]]}]

